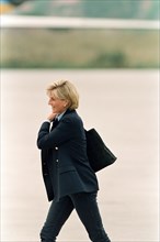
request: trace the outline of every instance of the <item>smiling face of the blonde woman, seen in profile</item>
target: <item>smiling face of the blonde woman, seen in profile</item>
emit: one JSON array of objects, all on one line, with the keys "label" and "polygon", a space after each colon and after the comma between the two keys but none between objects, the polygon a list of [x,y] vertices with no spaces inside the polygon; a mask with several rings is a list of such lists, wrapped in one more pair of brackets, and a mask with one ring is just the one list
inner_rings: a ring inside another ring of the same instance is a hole
[{"label": "smiling face of the blonde woman, seen in profile", "polygon": [[67,109],[67,100],[56,97],[49,97],[48,105],[52,107],[54,113],[62,113]]}]

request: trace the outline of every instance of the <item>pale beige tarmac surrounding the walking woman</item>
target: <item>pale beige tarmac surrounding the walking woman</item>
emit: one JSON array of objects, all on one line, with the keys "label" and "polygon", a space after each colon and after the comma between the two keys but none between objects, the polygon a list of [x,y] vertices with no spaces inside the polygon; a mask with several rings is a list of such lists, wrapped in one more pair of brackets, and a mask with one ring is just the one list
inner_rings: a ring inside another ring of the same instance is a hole
[{"label": "pale beige tarmac surrounding the walking woman", "polygon": [[[1,70],[1,242],[36,242],[49,202],[36,138],[50,112],[46,86],[70,79],[85,129],[117,156],[99,172],[98,202],[112,242],[159,242],[159,72]],[[73,211],[58,242],[87,242]]]}]

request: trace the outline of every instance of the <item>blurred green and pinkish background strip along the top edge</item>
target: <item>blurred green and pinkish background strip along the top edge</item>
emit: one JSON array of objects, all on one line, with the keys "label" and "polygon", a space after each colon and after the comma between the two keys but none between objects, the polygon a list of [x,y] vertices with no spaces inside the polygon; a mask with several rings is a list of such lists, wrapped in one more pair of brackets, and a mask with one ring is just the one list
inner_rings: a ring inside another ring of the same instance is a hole
[{"label": "blurred green and pinkish background strip along the top edge", "polygon": [[16,14],[150,20],[159,18],[159,0],[24,1],[15,10]]}]

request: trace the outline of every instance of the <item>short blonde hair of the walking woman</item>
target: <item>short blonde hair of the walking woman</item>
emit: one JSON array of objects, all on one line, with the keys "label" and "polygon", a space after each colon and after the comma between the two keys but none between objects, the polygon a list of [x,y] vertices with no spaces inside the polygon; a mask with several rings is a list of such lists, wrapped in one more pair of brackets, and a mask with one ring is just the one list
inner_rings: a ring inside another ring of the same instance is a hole
[{"label": "short blonde hair of the walking woman", "polygon": [[69,80],[56,80],[47,87],[47,95],[61,100],[68,101],[70,110],[79,107],[79,94]]}]

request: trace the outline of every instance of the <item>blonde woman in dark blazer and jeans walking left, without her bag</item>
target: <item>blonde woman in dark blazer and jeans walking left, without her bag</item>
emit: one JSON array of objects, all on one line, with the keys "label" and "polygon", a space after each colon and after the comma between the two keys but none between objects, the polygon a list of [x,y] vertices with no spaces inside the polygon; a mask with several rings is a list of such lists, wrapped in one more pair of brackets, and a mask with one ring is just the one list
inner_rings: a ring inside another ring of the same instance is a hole
[{"label": "blonde woman in dark blazer and jeans walking left, without her bag", "polygon": [[91,241],[111,242],[96,204],[99,185],[88,161],[83,123],[76,111],[79,106],[77,89],[70,81],[59,80],[47,88],[47,95],[52,113],[39,129],[37,146],[42,150],[48,200],[53,201],[41,240],[55,242],[76,209]]}]

